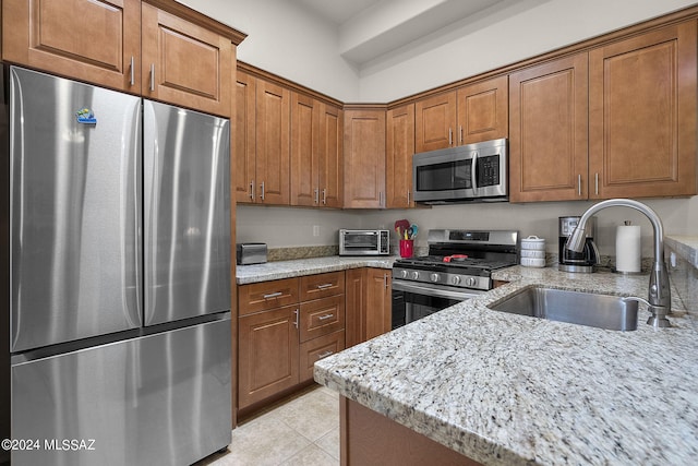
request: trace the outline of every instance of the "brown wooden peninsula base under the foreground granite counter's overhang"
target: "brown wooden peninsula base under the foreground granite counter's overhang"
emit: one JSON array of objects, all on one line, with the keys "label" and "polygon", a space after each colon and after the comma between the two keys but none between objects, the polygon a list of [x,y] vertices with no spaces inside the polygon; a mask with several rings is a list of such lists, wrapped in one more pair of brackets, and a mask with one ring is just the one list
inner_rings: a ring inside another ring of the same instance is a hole
[{"label": "brown wooden peninsula base under the foreground granite counter's overhang", "polygon": [[480,465],[344,396],[339,397],[339,415],[342,466]]}]

